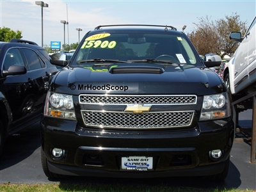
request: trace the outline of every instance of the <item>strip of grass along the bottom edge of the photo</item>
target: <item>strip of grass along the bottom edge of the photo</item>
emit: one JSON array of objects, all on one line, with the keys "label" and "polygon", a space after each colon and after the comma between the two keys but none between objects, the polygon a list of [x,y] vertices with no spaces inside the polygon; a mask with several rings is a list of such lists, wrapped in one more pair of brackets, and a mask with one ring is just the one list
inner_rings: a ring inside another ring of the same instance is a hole
[{"label": "strip of grass along the bottom edge of the photo", "polygon": [[9,191],[42,191],[42,192],[61,192],[61,191],[84,191],[84,192],[253,192],[253,190],[239,189],[202,189],[202,188],[186,188],[186,187],[169,187],[164,184],[159,186],[144,186],[132,184],[0,184],[0,189],[3,192]]}]

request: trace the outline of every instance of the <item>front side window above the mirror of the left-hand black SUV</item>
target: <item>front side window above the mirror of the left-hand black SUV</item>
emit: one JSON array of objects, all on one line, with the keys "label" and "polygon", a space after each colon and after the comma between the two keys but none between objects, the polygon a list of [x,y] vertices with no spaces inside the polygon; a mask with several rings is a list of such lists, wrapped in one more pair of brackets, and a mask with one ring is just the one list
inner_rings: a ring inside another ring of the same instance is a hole
[{"label": "front side window above the mirror of the left-hand black SUV", "polygon": [[6,56],[4,58],[4,63],[3,63],[3,70],[8,70],[8,68],[11,65],[25,66],[25,63],[22,59],[22,56],[18,48],[9,49],[6,52]]}]

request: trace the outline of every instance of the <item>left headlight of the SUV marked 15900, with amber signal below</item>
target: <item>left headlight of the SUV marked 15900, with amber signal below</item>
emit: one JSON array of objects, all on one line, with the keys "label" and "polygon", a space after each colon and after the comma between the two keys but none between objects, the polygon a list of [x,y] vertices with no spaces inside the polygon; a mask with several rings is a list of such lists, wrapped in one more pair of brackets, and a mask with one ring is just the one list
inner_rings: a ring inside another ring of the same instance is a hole
[{"label": "left headlight of the SUV marked 15900, with amber signal below", "polygon": [[72,95],[48,92],[44,115],[76,120]]}]

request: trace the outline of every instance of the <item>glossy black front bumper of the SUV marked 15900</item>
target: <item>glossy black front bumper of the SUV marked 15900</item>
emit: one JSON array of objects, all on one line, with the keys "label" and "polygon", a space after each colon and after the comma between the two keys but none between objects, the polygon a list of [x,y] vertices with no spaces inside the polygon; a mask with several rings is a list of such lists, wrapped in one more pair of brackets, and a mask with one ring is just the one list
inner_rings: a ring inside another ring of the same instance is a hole
[{"label": "glossy black front bumper of the SUV marked 15900", "polygon": [[[221,173],[234,140],[231,118],[199,122],[191,129],[155,131],[103,131],[77,122],[44,117],[42,148],[52,173],[100,177],[172,177]],[[52,148],[65,156],[54,158]],[[223,155],[214,160],[211,150]],[[121,158],[153,157],[153,169],[121,170]]]}]

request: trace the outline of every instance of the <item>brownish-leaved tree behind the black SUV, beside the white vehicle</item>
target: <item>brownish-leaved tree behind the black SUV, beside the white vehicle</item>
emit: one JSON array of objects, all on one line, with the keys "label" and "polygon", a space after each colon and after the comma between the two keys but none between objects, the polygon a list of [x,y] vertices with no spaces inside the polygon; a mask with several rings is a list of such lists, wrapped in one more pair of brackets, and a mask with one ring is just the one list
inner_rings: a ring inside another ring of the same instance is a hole
[{"label": "brownish-leaved tree behind the black SUV, beside the white vehicle", "polygon": [[[194,23],[195,24],[195,23]],[[199,18],[199,23],[195,24],[196,29],[188,34],[191,42],[195,45],[199,54],[215,53],[223,58],[225,55],[231,56],[237,49],[238,43],[229,39],[232,31],[240,31],[242,35],[246,32],[246,22],[240,20],[240,16],[233,13],[213,22],[206,18]]]}]

